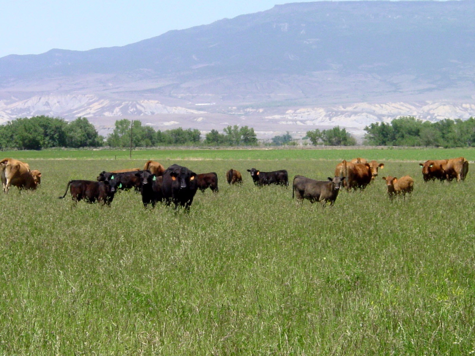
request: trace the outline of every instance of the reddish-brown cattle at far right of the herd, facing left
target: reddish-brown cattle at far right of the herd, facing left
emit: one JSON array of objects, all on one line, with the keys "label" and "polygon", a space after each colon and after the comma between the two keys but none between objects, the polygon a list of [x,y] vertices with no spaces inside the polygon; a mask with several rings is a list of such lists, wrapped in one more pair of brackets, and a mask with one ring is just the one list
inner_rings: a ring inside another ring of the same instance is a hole
[{"label": "reddish-brown cattle at far right of the herd, facing left", "polygon": [[424,164],[419,163],[422,167],[422,177],[425,182],[429,180],[439,179],[440,181],[451,181],[454,178],[459,182],[464,180],[468,173],[468,161],[463,157],[452,159],[429,159]]}]

